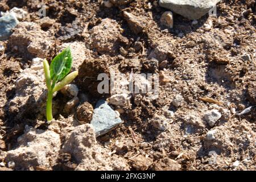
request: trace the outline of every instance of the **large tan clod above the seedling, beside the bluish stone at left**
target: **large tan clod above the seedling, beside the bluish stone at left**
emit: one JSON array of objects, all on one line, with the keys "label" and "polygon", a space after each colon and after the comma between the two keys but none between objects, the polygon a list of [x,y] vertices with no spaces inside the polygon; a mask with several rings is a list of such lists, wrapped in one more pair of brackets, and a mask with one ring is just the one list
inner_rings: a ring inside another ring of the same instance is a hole
[{"label": "large tan clod above the seedling, beside the bluish stone at left", "polygon": [[17,47],[24,57],[47,57],[51,53],[54,40],[49,32],[32,22],[20,22],[9,38],[9,46]]}]

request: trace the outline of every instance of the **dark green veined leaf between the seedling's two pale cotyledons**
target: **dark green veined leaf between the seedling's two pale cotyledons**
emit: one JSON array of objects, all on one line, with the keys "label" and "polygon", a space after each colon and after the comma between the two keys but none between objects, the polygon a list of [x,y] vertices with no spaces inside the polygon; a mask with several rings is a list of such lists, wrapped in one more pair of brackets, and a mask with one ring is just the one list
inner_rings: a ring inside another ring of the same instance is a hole
[{"label": "dark green veined leaf between the seedling's two pale cotyledons", "polygon": [[50,65],[51,80],[56,82],[62,80],[71,71],[72,62],[71,49],[65,48],[52,60]]}]

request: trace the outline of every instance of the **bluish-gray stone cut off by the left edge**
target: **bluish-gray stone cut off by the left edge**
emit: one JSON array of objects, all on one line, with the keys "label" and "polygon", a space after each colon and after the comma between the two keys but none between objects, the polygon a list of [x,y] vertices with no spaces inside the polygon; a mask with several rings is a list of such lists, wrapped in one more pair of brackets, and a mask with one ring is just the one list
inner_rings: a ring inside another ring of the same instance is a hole
[{"label": "bluish-gray stone cut off by the left edge", "polygon": [[19,23],[15,14],[10,13],[0,18],[0,40],[7,40],[12,29]]}]

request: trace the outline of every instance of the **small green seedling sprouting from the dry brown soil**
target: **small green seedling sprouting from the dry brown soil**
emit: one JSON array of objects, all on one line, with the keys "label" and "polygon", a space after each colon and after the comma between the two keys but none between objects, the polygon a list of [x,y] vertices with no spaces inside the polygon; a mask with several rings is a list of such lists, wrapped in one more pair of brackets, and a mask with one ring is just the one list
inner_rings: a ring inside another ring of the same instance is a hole
[{"label": "small green seedling sprouting from the dry brown soil", "polygon": [[[53,93],[62,89],[65,85],[72,82],[78,75],[78,72],[72,72],[73,58],[71,55],[71,49],[65,48],[52,60],[51,66],[46,59],[43,61],[44,75],[46,77],[46,86],[48,90],[47,104],[46,104],[46,118],[48,122],[51,122],[52,117],[52,98]],[[68,74],[69,73],[69,74]]]}]

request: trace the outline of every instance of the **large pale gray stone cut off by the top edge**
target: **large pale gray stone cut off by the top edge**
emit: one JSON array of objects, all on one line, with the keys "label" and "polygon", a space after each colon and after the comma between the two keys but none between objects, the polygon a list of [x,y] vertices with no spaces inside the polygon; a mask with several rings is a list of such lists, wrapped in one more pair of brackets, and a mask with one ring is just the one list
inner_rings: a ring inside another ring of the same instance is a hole
[{"label": "large pale gray stone cut off by the top edge", "polygon": [[188,19],[199,19],[220,0],[160,0],[159,5]]}]

